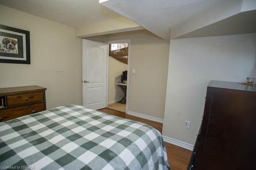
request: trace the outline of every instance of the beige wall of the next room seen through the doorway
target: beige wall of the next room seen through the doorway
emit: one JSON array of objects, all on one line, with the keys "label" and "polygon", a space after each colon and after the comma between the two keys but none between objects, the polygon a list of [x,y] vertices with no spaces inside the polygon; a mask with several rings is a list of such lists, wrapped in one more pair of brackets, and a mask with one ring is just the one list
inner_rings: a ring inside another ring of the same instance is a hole
[{"label": "beige wall of the next room seen through the doorway", "polygon": [[121,81],[122,71],[127,70],[127,64],[109,56],[109,83],[108,83],[108,103],[114,103],[123,98],[122,89],[116,85]]}]

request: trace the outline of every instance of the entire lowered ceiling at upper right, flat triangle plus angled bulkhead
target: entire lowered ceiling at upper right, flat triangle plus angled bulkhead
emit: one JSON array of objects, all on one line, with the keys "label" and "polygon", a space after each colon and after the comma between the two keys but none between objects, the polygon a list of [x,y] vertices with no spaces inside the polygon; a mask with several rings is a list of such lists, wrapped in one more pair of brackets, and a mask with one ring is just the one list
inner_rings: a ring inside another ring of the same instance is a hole
[{"label": "entire lowered ceiling at upper right, flat triangle plus angled bulkhead", "polygon": [[108,0],[101,4],[163,39],[255,32],[255,0]]}]

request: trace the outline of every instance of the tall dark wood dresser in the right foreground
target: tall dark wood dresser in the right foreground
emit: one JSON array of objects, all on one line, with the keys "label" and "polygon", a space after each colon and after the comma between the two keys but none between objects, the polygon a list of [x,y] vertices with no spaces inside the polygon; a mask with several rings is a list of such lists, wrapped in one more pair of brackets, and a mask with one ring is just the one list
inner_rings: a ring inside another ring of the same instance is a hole
[{"label": "tall dark wood dresser in the right foreground", "polygon": [[256,85],[209,83],[188,169],[256,169]]}]

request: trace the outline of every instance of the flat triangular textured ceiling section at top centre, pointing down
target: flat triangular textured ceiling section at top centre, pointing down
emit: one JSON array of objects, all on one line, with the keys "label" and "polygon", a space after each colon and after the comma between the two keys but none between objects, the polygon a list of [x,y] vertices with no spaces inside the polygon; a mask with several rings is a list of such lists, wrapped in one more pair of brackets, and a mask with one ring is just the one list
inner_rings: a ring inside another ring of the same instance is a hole
[{"label": "flat triangular textured ceiling section at top centre, pointing down", "polygon": [[161,38],[170,29],[221,0],[109,0],[101,4],[138,23]]}]

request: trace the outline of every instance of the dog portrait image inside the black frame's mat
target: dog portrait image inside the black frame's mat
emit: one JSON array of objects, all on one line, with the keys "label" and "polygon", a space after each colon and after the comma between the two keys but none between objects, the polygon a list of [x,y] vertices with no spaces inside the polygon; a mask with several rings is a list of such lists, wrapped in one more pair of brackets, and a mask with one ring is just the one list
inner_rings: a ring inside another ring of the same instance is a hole
[{"label": "dog portrait image inside the black frame's mat", "polygon": [[2,42],[0,45],[0,52],[18,54],[17,39],[0,36],[0,42]]}]

